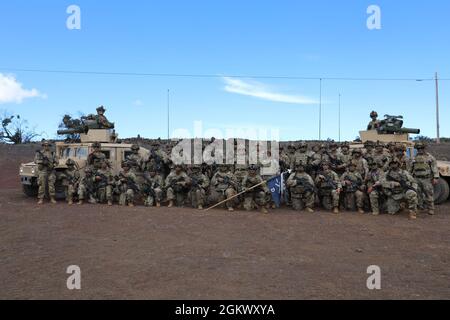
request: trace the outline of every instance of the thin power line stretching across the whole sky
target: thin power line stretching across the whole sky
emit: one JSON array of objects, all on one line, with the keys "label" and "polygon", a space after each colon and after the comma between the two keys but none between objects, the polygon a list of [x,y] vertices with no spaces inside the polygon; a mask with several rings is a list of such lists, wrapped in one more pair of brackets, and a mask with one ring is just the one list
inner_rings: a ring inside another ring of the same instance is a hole
[{"label": "thin power line stretching across the whole sky", "polygon": [[[84,74],[101,76],[139,76],[139,77],[184,77],[184,78],[247,78],[247,79],[284,79],[284,80],[337,80],[337,81],[434,81],[430,78],[358,78],[358,77],[306,77],[306,76],[276,76],[276,75],[236,75],[236,74],[183,74],[183,73],[146,73],[146,72],[107,72],[107,71],[83,71],[83,70],[50,70],[50,69],[22,69],[2,68],[0,70],[12,72],[34,73],[58,73],[58,74]],[[450,78],[440,78],[440,81],[448,81]]]}]

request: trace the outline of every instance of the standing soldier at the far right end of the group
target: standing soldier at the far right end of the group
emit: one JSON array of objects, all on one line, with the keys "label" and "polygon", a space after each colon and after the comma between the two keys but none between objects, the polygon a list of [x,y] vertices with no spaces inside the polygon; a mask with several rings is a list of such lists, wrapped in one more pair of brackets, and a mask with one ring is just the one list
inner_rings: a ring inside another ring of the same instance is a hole
[{"label": "standing soldier at the far right end of the group", "polygon": [[418,185],[419,203],[428,209],[428,214],[434,215],[434,188],[439,181],[439,171],[436,159],[425,152],[425,144],[417,142],[417,155],[411,163],[411,174]]}]

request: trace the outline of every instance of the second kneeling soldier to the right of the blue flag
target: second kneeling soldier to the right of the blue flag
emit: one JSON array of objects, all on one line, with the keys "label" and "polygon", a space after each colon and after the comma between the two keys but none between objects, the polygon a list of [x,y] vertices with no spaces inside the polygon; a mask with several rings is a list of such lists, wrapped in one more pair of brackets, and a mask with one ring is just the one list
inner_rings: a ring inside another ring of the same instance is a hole
[{"label": "second kneeling soldier to the right of the blue flag", "polygon": [[333,213],[338,214],[342,185],[339,176],[330,169],[328,162],[322,163],[322,171],[316,177],[316,186],[319,189],[322,206],[326,210],[333,209]]}]

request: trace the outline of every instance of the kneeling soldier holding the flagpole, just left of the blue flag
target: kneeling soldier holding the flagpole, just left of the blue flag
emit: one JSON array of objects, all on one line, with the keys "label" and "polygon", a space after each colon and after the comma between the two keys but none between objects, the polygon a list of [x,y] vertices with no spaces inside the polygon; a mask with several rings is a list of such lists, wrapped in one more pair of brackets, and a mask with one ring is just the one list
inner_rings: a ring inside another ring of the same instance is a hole
[{"label": "kneeling soldier holding the flagpole, just left of the blue flag", "polygon": [[[248,174],[242,181],[243,191],[264,182],[263,178],[258,174],[258,166],[250,165],[248,167]],[[259,187],[256,187],[244,194],[244,209],[250,211],[253,209],[253,204],[256,204],[261,209],[261,212],[267,214],[268,211],[265,208],[267,203],[267,194],[269,194],[269,188],[267,184],[263,183]]]}]

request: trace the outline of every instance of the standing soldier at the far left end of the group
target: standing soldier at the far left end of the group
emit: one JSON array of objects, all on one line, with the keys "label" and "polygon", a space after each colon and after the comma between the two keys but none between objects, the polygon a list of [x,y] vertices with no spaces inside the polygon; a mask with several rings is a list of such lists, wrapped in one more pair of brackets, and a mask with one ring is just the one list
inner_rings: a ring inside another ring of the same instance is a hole
[{"label": "standing soldier at the far left end of the group", "polygon": [[56,203],[55,200],[55,166],[57,165],[57,159],[55,154],[50,150],[50,143],[48,141],[42,141],[42,150],[36,152],[34,162],[38,166],[38,204],[44,203],[44,197],[47,193],[50,196],[50,202]]}]

